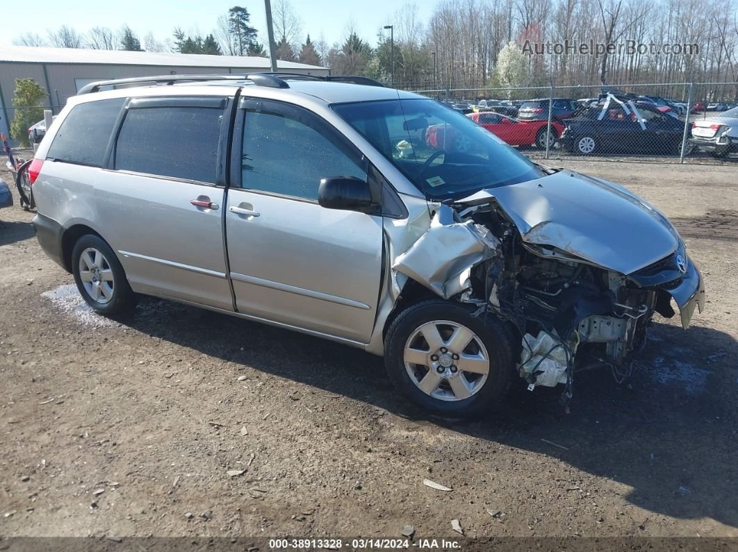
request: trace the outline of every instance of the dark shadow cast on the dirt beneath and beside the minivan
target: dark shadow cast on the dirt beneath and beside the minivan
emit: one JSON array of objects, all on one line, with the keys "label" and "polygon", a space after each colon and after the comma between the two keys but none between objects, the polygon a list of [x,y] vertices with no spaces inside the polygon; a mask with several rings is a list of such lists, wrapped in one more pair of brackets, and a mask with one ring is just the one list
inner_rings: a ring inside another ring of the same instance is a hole
[{"label": "dark shadow cast on the dirt beneath and beside the minivan", "polygon": [[560,458],[630,486],[627,500],[650,511],[738,527],[738,344],[714,329],[655,324],[629,380],[618,384],[606,369],[576,377],[570,415],[558,390],[538,389],[515,396],[502,414],[459,423],[407,405],[379,357],[345,346],[148,298],[124,323],[400,416]]}]

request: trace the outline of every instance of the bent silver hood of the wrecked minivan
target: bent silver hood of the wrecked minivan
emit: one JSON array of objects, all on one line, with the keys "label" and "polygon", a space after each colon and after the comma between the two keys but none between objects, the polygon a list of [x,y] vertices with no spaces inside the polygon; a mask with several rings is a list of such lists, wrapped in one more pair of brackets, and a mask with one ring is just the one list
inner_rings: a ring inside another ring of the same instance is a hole
[{"label": "bent silver hood of the wrecked minivan", "polygon": [[523,242],[549,245],[622,274],[663,259],[679,243],[672,224],[646,201],[622,186],[568,170],[481,190],[458,203],[492,201]]}]

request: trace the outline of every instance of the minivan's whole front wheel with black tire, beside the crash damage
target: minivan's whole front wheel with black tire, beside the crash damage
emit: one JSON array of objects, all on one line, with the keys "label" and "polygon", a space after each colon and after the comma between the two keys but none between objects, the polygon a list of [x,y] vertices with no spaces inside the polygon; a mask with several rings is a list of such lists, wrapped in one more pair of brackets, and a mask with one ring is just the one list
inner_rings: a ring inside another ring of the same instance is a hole
[{"label": "minivan's whole front wheel with black tire, beside the crash damage", "polygon": [[494,315],[431,300],[401,312],[384,343],[393,385],[415,405],[471,418],[500,408],[513,373],[509,332]]}]

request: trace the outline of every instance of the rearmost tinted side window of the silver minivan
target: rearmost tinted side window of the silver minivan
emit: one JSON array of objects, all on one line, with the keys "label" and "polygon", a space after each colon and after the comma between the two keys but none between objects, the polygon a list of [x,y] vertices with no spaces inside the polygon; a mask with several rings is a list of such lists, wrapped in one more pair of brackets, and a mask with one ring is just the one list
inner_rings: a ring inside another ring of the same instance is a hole
[{"label": "rearmost tinted side window of the silver minivan", "polygon": [[123,98],[102,99],[72,108],[61,123],[46,157],[101,167],[123,102]]}]

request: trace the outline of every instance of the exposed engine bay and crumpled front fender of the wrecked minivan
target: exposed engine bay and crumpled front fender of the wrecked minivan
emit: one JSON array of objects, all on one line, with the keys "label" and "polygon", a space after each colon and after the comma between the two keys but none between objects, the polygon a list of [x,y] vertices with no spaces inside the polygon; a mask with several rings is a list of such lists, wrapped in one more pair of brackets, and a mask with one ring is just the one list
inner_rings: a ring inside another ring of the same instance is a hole
[{"label": "exposed engine bay and crumpled front fender of the wrecked minivan", "polygon": [[[494,199],[436,204],[430,229],[393,269],[439,296],[474,305],[476,316],[514,326],[516,368],[530,391],[562,384],[566,404],[573,374],[602,365],[622,382],[655,312],[671,318],[673,297],[686,327],[695,305],[702,310],[704,287],[698,272],[697,284],[689,282],[697,269],[687,273],[681,242],[666,258],[626,275],[554,243],[531,243],[519,226]],[[433,251],[444,251],[445,262]]]}]

